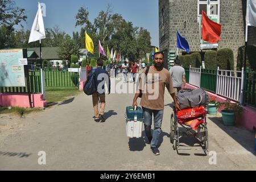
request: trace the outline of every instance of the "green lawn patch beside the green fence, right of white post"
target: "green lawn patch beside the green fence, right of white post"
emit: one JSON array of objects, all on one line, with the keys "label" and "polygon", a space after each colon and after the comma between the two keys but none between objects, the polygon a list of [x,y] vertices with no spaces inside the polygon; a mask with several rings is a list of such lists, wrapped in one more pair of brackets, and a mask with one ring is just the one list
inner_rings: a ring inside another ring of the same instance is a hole
[{"label": "green lawn patch beside the green fence, right of white post", "polygon": [[69,97],[77,96],[81,92],[78,88],[56,88],[47,87],[46,88],[46,100],[49,105],[54,102],[64,101]]}]

